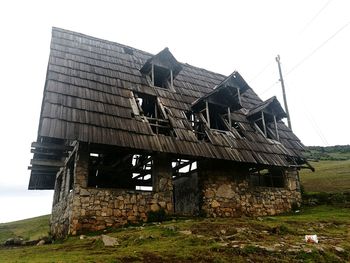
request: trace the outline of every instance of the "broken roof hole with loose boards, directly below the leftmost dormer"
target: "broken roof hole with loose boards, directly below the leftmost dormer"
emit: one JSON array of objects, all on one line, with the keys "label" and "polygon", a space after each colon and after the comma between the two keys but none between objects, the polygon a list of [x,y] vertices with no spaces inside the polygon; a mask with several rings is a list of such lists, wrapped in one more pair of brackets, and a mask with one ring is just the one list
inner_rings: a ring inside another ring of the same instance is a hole
[{"label": "broken roof hole with loose boards, directly below the leftmost dormer", "polygon": [[143,93],[134,94],[137,109],[133,107],[134,115],[144,116],[153,133],[176,137],[168,120],[168,109],[166,109],[155,96]]}]

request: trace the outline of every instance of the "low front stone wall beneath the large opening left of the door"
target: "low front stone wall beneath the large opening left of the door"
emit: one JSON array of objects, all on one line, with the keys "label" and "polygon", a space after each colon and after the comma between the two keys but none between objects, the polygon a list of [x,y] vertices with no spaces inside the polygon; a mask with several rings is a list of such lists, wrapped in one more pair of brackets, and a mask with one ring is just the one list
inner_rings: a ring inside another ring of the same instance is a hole
[{"label": "low front stone wall beneath the large opening left of the door", "polygon": [[72,235],[147,221],[149,211],[173,213],[170,193],[80,188],[74,196]]}]

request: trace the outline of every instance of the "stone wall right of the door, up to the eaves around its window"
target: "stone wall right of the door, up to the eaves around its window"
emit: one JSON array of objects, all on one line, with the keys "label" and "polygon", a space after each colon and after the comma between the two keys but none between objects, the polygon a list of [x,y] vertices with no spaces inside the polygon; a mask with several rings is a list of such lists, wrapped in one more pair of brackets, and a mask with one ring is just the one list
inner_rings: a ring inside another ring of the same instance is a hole
[{"label": "stone wall right of the door, up to the eaves around its window", "polygon": [[210,217],[275,215],[300,205],[298,172],[285,172],[285,187],[253,187],[248,169],[201,163],[201,209]]}]

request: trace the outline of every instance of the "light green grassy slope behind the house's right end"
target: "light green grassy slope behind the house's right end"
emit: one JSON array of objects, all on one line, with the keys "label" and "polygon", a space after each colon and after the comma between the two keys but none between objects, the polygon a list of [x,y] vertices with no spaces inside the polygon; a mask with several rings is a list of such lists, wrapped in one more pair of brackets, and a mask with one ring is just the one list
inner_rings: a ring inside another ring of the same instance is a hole
[{"label": "light green grassy slope behind the house's right end", "polygon": [[302,170],[301,183],[307,192],[350,191],[350,160],[310,162],[316,171]]}]

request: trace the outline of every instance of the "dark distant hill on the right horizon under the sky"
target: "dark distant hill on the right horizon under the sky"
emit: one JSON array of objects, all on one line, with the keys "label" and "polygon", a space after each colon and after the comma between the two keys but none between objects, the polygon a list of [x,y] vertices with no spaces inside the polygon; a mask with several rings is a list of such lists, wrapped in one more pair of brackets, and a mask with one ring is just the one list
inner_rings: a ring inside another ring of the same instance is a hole
[{"label": "dark distant hill on the right horizon under the sky", "polygon": [[307,146],[306,157],[312,160],[350,160],[350,145]]}]

